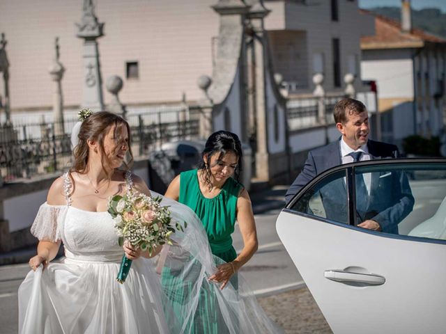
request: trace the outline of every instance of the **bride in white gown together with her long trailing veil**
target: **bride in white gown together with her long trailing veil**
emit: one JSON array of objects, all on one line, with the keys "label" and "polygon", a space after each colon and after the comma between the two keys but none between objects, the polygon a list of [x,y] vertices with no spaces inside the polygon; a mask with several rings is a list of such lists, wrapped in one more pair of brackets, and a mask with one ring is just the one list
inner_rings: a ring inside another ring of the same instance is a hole
[{"label": "bride in white gown together with her long trailing veil", "polygon": [[[221,260],[213,257],[203,225],[191,209],[163,198],[171,216],[187,222],[171,246],[153,257],[130,244],[118,246],[107,199],[137,191],[151,196],[144,181],[118,170],[130,150],[130,127],[113,113],[93,113],[73,129],[74,163],[49,189],[31,227],[39,239],[32,269],[20,285],[19,333],[192,333],[203,294],[218,310],[215,333],[279,333],[255,297],[238,278],[238,287],[213,283]],[[73,138],[73,136],[72,136]],[[77,145],[75,145],[77,144]],[[157,195],[157,194],[156,194]],[[63,243],[65,257],[51,262]],[[121,258],[133,260],[122,285],[116,282]],[[50,263],[51,262],[51,263]],[[167,268],[178,280],[162,287]],[[179,290],[178,290],[179,289]],[[172,294],[181,299],[172,303]]]}]

